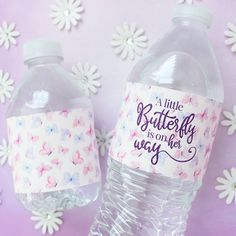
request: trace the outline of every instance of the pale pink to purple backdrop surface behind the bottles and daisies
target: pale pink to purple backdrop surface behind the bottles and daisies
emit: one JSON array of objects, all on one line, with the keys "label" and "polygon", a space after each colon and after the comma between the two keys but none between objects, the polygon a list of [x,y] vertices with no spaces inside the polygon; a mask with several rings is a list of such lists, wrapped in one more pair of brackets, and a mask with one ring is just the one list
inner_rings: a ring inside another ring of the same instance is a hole
[{"label": "pale pink to purple backdrop surface behind the bottles and daisies", "polygon": [[[60,32],[51,23],[50,4],[54,1],[0,0],[0,22],[16,22],[21,36],[18,46],[10,51],[0,48],[0,69],[11,73],[11,78],[19,83],[26,68],[22,62],[22,45],[25,41],[44,36],[61,42],[65,63],[68,69],[77,62],[89,62],[98,66],[102,74],[102,88],[93,96],[96,127],[109,131],[116,122],[127,75],[133,62],[123,62],[115,56],[110,47],[111,34],[123,22],[136,22],[146,30],[150,45],[161,36],[170,25],[170,17],[175,0],[83,0],[85,12],[83,21],[72,32]],[[210,29],[225,85],[225,109],[232,110],[236,99],[235,55],[224,45],[223,32],[229,21],[236,16],[235,0],[205,0],[214,12],[215,18]],[[0,140],[6,137],[6,105],[0,104]],[[109,114],[109,116],[108,116]],[[229,137],[226,129],[220,127],[203,187],[199,191],[191,210],[187,236],[236,235],[235,205],[227,206],[218,199],[214,190],[216,177],[222,175],[224,168],[235,166],[235,136]],[[103,177],[106,172],[106,158],[101,158]],[[0,168],[0,235],[37,236],[30,213],[16,200],[13,191],[11,171],[8,166]],[[64,214],[64,224],[58,236],[86,236],[99,202],[68,211]]]}]

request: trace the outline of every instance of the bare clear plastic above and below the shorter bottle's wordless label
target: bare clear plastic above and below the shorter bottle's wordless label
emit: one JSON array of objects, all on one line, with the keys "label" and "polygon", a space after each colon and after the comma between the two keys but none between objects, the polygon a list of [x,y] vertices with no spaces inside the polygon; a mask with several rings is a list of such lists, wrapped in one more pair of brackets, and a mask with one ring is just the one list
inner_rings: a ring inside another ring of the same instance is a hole
[{"label": "bare clear plastic above and below the shorter bottle's wordless label", "polygon": [[[60,62],[61,57],[38,57],[26,62],[29,70],[11,100],[7,118],[92,106]],[[100,188],[97,182],[74,189],[17,195],[30,211],[66,210],[95,201]]]}]

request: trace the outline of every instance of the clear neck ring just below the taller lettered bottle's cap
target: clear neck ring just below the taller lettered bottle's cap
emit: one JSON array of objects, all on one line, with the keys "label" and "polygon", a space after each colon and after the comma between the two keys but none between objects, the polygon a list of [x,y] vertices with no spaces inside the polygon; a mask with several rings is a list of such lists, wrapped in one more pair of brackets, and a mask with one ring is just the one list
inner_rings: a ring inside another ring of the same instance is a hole
[{"label": "clear neck ring just below the taller lettered bottle's cap", "polygon": [[191,28],[197,28],[198,30],[204,30],[207,31],[208,26],[197,19],[187,18],[187,17],[177,17],[173,20],[174,26],[180,26],[180,27],[191,27]]}]

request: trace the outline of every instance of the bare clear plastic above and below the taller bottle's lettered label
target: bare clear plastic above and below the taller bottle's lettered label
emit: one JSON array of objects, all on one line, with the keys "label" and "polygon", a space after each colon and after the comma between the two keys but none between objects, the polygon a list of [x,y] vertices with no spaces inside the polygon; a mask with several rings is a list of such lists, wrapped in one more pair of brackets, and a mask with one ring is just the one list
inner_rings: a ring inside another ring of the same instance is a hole
[{"label": "bare clear plastic above and below the taller bottle's lettered label", "polygon": [[[175,18],[172,29],[134,67],[129,81],[187,91],[218,102],[224,98],[207,26],[194,19]],[[90,236],[184,235],[200,181],[119,167],[113,159],[108,169]]]}]

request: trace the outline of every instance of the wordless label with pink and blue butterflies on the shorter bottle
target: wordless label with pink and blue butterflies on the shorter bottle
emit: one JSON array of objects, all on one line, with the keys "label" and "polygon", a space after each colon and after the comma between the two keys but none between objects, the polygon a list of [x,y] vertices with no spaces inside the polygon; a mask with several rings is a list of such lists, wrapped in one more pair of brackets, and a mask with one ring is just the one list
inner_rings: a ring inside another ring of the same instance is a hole
[{"label": "wordless label with pink and blue butterflies on the shorter bottle", "polygon": [[100,181],[91,109],[7,119],[15,192],[39,193]]}]

